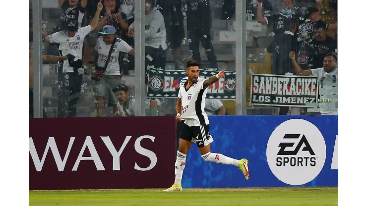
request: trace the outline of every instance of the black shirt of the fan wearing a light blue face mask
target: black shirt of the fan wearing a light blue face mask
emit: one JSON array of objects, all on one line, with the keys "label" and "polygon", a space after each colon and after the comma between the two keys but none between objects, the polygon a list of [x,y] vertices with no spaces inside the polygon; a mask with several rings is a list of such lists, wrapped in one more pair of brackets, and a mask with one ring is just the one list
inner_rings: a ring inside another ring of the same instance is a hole
[{"label": "black shirt of the fan wearing a light blue face mask", "polygon": [[[283,34],[284,31],[291,31],[291,19],[295,18],[297,21],[303,20],[300,14],[283,15],[281,13],[265,17],[268,20],[268,25],[273,26],[275,35]],[[297,23],[298,25],[298,23]]]}]

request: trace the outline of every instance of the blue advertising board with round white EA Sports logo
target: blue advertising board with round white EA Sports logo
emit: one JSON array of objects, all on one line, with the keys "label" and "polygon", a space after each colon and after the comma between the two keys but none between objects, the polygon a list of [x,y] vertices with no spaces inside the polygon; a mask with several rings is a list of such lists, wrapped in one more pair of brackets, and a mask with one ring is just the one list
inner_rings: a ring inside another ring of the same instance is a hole
[{"label": "blue advertising board with round white EA Sports logo", "polygon": [[193,145],[183,188],[338,186],[337,115],[209,116],[209,121],[211,152],[247,158],[249,179],[236,166],[205,162]]}]

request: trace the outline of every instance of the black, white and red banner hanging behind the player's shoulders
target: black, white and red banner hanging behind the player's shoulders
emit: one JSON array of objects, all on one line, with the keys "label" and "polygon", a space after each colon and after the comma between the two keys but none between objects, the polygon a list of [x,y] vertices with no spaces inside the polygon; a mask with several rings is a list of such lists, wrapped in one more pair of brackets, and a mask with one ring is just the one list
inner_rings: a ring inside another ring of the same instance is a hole
[{"label": "black, white and red banner hanging behind the player's shoulders", "polygon": [[[162,70],[149,69],[147,84],[148,98],[177,98],[180,90],[180,82],[186,77],[186,70]],[[218,71],[199,70],[199,77],[209,78]],[[236,99],[236,72],[225,71],[225,78],[219,79],[207,89],[207,98],[220,100]]]}]

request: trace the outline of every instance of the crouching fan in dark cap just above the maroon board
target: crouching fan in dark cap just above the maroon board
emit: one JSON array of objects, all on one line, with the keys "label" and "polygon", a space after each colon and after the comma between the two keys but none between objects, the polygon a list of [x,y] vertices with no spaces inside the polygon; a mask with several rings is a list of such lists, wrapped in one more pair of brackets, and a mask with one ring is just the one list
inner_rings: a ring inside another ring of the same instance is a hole
[{"label": "crouching fan in dark cap just above the maroon board", "polygon": [[[116,94],[116,98],[119,100],[117,104],[118,111],[113,116],[134,116],[135,115],[135,98],[130,95],[129,89],[126,85],[120,84],[113,89]],[[155,100],[145,100],[146,115],[149,116],[149,110],[151,110],[152,116],[158,116],[157,106],[160,102]]]}]

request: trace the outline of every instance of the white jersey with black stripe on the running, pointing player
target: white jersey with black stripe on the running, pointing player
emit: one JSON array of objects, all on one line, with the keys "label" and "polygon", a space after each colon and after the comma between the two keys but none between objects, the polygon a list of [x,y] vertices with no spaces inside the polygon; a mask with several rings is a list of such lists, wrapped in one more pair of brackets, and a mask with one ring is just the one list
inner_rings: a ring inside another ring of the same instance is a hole
[{"label": "white jersey with black stripe on the running, pointing player", "polygon": [[205,113],[205,97],[207,88],[204,89],[204,81],[200,77],[186,90],[188,78],[180,82],[179,98],[181,98],[181,118],[188,126],[200,126],[209,124],[208,115]]}]

